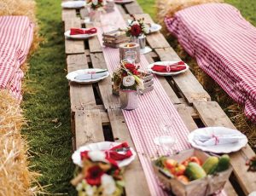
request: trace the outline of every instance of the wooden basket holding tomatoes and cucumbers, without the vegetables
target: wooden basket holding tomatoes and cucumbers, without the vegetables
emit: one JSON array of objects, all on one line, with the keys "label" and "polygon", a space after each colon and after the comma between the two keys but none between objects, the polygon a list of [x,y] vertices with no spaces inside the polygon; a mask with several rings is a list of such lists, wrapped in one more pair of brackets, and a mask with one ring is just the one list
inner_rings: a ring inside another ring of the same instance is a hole
[{"label": "wooden basket holding tomatoes and cucumbers, without the vegetables", "polygon": [[[191,156],[196,156],[203,162],[209,157],[207,153],[200,150],[190,149],[178,153],[177,155],[173,155],[170,159],[175,159],[181,163],[183,160],[188,159]],[[156,166],[155,161],[153,161],[153,167],[163,186],[177,196],[205,196],[219,192],[224,188],[225,183],[229,181],[229,177],[232,172],[232,167],[230,166],[228,170],[219,172],[216,175],[208,175],[202,179],[184,184],[169,173],[166,173],[165,170]]]}]

